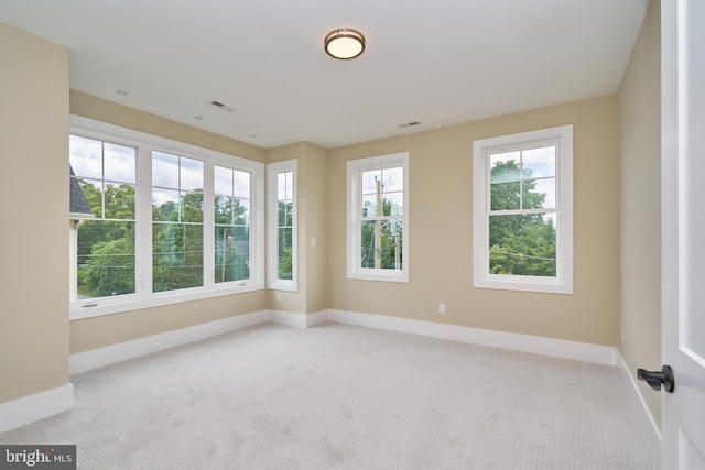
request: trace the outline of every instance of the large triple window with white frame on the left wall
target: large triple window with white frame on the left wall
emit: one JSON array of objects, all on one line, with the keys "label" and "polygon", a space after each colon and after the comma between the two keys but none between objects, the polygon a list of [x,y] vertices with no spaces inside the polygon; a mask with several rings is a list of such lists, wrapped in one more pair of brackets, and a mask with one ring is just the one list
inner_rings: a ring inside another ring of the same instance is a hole
[{"label": "large triple window with white frame on the left wall", "polygon": [[263,164],[78,117],[69,142],[94,216],[72,214],[72,319],[263,288]]}]

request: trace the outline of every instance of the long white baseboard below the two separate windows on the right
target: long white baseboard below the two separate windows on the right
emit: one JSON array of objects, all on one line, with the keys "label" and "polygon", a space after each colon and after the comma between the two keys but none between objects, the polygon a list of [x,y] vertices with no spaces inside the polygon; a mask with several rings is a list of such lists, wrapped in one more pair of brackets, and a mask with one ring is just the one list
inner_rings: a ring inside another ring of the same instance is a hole
[{"label": "long white baseboard below the two separate windows on the right", "polygon": [[616,349],[601,345],[345,310],[328,310],[328,320],[605,365],[617,365]]}]

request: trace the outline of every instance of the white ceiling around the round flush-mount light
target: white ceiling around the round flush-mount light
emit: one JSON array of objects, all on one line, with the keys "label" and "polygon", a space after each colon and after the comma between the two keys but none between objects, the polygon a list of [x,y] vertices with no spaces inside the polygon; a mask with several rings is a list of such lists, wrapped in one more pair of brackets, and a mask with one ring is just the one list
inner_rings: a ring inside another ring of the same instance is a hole
[{"label": "white ceiling around the round flush-mount light", "polygon": [[[335,147],[616,92],[648,3],[1,0],[0,22],[70,50],[73,89],[261,147]],[[361,56],[324,52],[337,28],[365,34]]]}]

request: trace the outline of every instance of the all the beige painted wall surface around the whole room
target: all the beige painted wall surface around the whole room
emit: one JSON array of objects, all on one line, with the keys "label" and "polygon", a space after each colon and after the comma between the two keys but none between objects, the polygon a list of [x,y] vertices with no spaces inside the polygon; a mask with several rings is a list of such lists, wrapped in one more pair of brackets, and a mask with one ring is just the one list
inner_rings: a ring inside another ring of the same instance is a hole
[{"label": "all the beige painted wall surface around the whole room", "polygon": [[[69,100],[68,52],[0,24],[0,159],[8,175],[0,185],[0,249],[12,272],[2,283],[0,403],[65,385],[69,350],[264,308],[336,308],[608,346],[619,345],[621,325],[620,350],[630,369],[658,368],[658,6],[652,2],[619,96],[333,150],[303,142],[267,151],[82,92],[70,91]],[[69,107],[78,116],[259,162],[299,159],[299,293],[284,293],[281,305],[262,291],[69,325]],[[575,132],[575,294],[473,288],[473,141],[568,123]],[[400,151],[411,157],[411,282],[346,280],[345,162]],[[32,281],[37,266],[42,283]],[[445,315],[437,313],[440,302]],[[658,394],[644,392],[644,398],[658,419]]]}]

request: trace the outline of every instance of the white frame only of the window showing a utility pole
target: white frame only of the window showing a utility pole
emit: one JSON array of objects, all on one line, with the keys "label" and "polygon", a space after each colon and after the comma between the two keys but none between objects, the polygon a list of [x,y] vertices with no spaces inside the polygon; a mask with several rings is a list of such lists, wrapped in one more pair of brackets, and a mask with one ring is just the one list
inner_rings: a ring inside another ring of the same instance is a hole
[{"label": "white frame only of the window showing a utility pole", "polygon": [[[403,168],[402,269],[361,267],[360,223],[362,172],[401,166]],[[392,153],[347,162],[347,277],[365,281],[409,282],[409,152]]]}]

